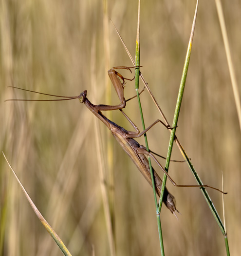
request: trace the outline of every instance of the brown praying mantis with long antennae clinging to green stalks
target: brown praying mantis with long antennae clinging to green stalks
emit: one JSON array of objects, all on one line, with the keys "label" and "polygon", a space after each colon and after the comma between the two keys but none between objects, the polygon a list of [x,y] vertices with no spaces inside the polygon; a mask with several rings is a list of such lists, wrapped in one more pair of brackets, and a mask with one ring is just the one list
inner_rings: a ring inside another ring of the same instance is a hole
[{"label": "brown praying mantis with long antennae clinging to green stalks", "polygon": [[[130,118],[123,112],[123,108],[126,106],[126,99],[124,97],[124,84],[125,84],[125,79],[121,74],[119,74],[116,69],[127,69],[130,70],[130,68],[135,68],[135,67],[125,67],[125,66],[119,66],[119,67],[113,67],[108,71],[108,75],[111,79],[111,82],[115,88],[115,91],[118,95],[118,98],[120,99],[120,104],[119,105],[94,105],[90,102],[90,100],[87,98],[87,91],[83,91],[79,96],[76,97],[64,97],[64,96],[57,96],[57,95],[50,95],[50,94],[45,94],[45,93],[39,93],[35,91],[30,91],[14,86],[10,86],[16,89],[21,89],[24,91],[29,91],[29,92],[35,92],[43,95],[48,95],[48,96],[54,96],[54,97],[61,97],[64,99],[45,99],[41,100],[38,99],[37,101],[52,101],[52,100],[68,100],[68,99],[74,99],[78,98],[80,103],[84,103],[85,106],[97,117],[99,118],[111,131],[112,135],[114,138],[117,140],[117,142],[120,144],[120,146],[123,148],[123,150],[128,154],[130,159],[134,162],[136,165],[137,169],[142,173],[142,175],[146,178],[148,183],[152,186],[152,181],[151,181],[151,174],[150,174],[150,168],[149,168],[149,163],[148,159],[146,156],[150,156],[151,158],[154,159],[154,161],[157,163],[157,165],[162,169],[162,171],[167,175],[169,180],[174,186],[177,187],[209,187],[212,189],[215,189],[219,192],[222,192],[221,190],[211,187],[209,185],[178,185],[174,180],[167,174],[166,170],[162,167],[162,165],[159,163],[159,161],[155,158],[155,156],[152,154],[151,151],[147,151],[147,149],[144,146],[141,146],[134,138],[139,138],[142,135],[144,135],[151,127],[153,127],[156,123],[161,122],[164,126],[166,126],[165,123],[163,123],[161,120],[157,119],[154,123],[152,123],[146,130],[143,132],[140,132],[137,126],[130,120]],[[131,72],[131,70],[130,70]],[[132,80],[132,79],[128,79]],[[29,99],[8,99],[8,100],[29,100]],[[30,99],[30,101],[36,101],[34,99]],[[132,127],[134,128],[135,131],[127,131],[123,127],[117,125],[116,123],[112,122],[110,119],[105,117],[101,111],[108,111],[108,110],[120,110],[121,113],[127,118],[127,120],[130,122]],[[171,127],[166,126],[167,129],[172,129]],[[158,196],[160,196],[161,193],[161,187],[162,187],[162,179],[158,176],[156,171],[152,168],[153,170],[153,177],[154,177],[154,183],[155,183],[155,191]],[[227,194],[222,192],[223,194]],[[167,208],[171,211],[171,213],[175,214],[175,211],[178,212],[176,209],[176,200],[175,197],[172,196],[167,188],[165,188],[165,193],[164,193],[164,199],[163,202],[167,206]]]}]

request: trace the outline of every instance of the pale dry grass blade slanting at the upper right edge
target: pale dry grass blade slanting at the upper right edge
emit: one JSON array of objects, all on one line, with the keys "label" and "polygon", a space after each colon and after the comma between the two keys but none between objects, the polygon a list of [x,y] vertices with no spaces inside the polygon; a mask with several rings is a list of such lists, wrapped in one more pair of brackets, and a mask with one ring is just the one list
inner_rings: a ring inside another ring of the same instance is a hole
[{"label": "pale dry grass blade slanting at the upper right edge", "polygon": [[218,16],[219,16],[219,23],[220,23],[220,27],[221,27],[221,31],[222,31],[222,39],[223,39],[225,53],[226,53],[226,57],[227,57],[228,69],[229,69],[229,73],[230,73],[230,78],[231,78],[231,83],[232,83],[232,88],[233,88],[233,93],[234,93],[234,99],[235,99],[235,105],[236,105],[237,114],[238,114],[238,118],[239,118],[240,129],[241,129],[240,93],[239,93],[237,79],[236,79],[235,71],[234,71],[234,67],[233,67],[233,61],[231,58],[227,30],[226,30],[226,25],[225,25],[225,21],[224,21],[223,12],[222,12],[222,3],[220,0],[215,0],[215,3],[216,3]]}]

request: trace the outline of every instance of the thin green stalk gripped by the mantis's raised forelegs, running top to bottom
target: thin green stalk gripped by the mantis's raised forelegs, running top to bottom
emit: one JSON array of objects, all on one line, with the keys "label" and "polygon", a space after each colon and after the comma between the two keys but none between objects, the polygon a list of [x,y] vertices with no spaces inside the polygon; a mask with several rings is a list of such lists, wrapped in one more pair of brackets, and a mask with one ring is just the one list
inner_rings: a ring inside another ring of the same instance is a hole
[{"label": "thin green stalk gripped by the mantis's raised forelegs, running top to bottom", "polygon": [[[144,122],[144,117],[143,117],[143,112],[142,112],[142,107],[141,107],[141,100],[139,96],[139,76],[140,76],[140,0],[139,0],[139,5],[138,5],[138,21],[137,21],[137,34],[136,34],[136,49],[135,49],[135,90],[137,94],[137,99],[138,99],[138,104],[139,104],[139,110],[140,110],[140,115],[141,115],[141,121],[142,121],[142,128],[143,130],[146,129],[145,127],[145,122]],[[145,144],[146,144],[146,149],[149,152],[149,147],[148,147],[148,139],[147,139],[147,134],[144,134],[145,138]],[[153,194],[154,194],[154,201],[155,201],[155,206],[156,206],[156,214],[157,214],[157,226],[158,226],[158,234],[159,234],[159,239],[160,239],[160,247],[161,247],[161,254],[162,256],[165,255],[164,253],[164,244],[163,244],[163,237],[162,237],[162,227],[161,227],[161,219],[160,219],[160,212],[158,211],[158,203],[157,203],[157,197],[156,197],[156,190],[155,190],[155,182],[154,182],[154,174],[151,166],[151,161],[150,157],[148,156],[148,162],[149,162],[149,168],[150,168],[150,175],[151,175],[151,181],[152,181],[152,188],[153,188]]]}]

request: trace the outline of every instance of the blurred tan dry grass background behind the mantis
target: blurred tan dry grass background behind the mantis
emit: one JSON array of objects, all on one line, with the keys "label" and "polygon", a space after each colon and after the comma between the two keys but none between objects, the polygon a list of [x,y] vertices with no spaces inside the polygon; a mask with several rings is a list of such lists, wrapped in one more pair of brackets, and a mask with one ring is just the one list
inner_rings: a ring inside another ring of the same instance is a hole
[{"label": "blurred tan dry grass background behind the mantis", "polygon": [[[132,56],[137,4],[127,0],[107,2],[107,15]],[[170,123],[194,9],[195,2],[187,0],[141,3],[142,72]],[[241,3],[223,1],[223,10],[240,83]],[[132,64],[110,21],[109,41],[106,38],[103,2],[2,0],[0,22],[1,148],[40,212],[73,255],[91,255],[92,246],[96,256],[110,255],[93,114],[77,100],[4,102],[9,98],[46,98],[7,88],[11,85],[64,96],[76,96],[86,89],[93,103],[107,102],[106,88],[111,86],[107,69]],[[132,78],[129,73],[124,75]],[[128,82],[126,98],[135,94],[133,88],[134,83]],[[112,103],[119,104],[114,91],[112,96]],[[147,92],[141,99],[148,126],[160,116]],[[125,112],[141,127],[136,100],[128,102]],[[112,116],[113,121],[130,129],[118,111]],[[100,128],[99,136],[110,140],[106,127],[100,124]],[[224,199],[230,253],[239,255],[241,133],[214,1],[203,0],[199,5],[176,134],[204,183],[221,188],[223,172],[224,191],[228,191]],[[148,140],[151,150],[166,156],[169,132],[164,127],[154,127]],[[138,141],[144,143],[142,138]],[[156,255],[160,246],[152,190],[115,141],[112,152],[116,255]],[[182,159],[176,146],[172,158]],[[185,163],[171,163],[169,173],[178,184],[195,184]],[[222,233],[199,189],[175,188],[168,181],[167,186],[182,215],[177,220],[163,207],[166,254],[225,255]],[[208,192],[222,216],[222,195]],[[3,157],[0,214],[2,255],[61,255]]]}]

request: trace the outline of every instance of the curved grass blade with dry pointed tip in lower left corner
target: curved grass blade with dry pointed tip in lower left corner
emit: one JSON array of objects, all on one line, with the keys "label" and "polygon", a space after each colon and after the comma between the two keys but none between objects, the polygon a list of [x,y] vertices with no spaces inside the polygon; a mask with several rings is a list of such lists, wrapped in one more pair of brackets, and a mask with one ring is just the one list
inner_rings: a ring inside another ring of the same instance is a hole
[{"label": "curved grass blade with dry pointed tip in lower left corner", "polygon": [[12,170],[14,176],[16,177],[16,179],[19,182],[19,185],[21,187],[21,189],[23,190],[24,195],[27,197],[30,205],[32,206],[33,210],[35,211],[37,217],[39,218],[39,220],[42,222],[43,226],[45,227],[45,229],[49,232],[49,234],[54,238],[56,244],[58,245],[58,247],[60,248],[60,250],[63,252],[64,255],[66,256],[71,256],[71,253],[69,252],[69,250],[67,249],[67,247],[64,245],[64,243],[62,242],[62,240],[59,238],[59,236],[56,234],[56,232],[54,231],[54,229],[49,225],[49,223],[46,221],[46,219],[41,215],[41,213],[38,211],[37,207],[35,206],[34,202],[32,201],[31,197],[28,195],[27,191],[25,190],[25,188],[23,187],[21,181],[19,180],[19,177],[17,176],[17,174],[15,173],[15,171],[13,170],[12,166],[10,165],[10,163],[8,162],[7,158],[5,157],[4,153],[2,152],[5,160],[7,161],[10,169]]}]

